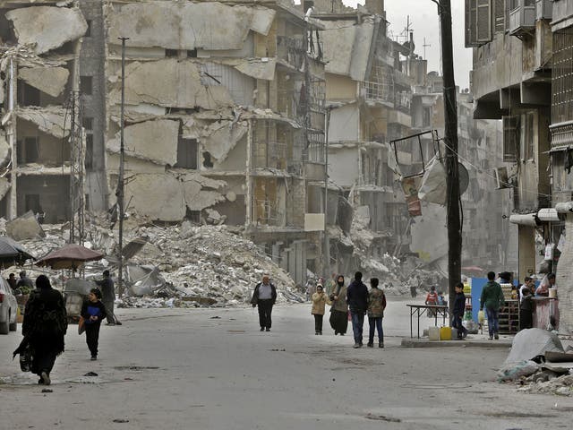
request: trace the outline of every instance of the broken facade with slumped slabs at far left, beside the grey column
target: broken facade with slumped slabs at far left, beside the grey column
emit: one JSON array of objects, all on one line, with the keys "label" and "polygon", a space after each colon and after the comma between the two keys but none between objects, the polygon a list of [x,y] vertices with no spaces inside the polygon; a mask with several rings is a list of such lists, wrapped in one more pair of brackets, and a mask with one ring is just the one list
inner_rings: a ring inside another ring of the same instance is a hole
[{"label": "broken facade with slumped slabs at far left, beside the grey column", "polygon": [[27,6],[0,2],[0,214],[62,222],[71,214],[70,125],[78,117],[70,100],[88,25],[73,2]]}]

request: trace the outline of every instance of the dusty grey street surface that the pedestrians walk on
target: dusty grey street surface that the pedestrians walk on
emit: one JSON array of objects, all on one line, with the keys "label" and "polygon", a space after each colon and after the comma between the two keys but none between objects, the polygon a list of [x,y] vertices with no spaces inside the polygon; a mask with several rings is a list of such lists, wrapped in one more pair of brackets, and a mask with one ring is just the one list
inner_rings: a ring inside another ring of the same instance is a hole
[{"label": "dusty grey street surface that the pedestrians walk on", "polygon": [[20,334],[0,336],[0,428],[570,428],[573,399],[494,381],[503,348],[400,348],[405,303],[390,299],[384,349],[328,322],[315,336],[310,305],[276,307],[269,333],[251,308],[120,309],[97,362],[70,327],[49,393],[11,361]]}]

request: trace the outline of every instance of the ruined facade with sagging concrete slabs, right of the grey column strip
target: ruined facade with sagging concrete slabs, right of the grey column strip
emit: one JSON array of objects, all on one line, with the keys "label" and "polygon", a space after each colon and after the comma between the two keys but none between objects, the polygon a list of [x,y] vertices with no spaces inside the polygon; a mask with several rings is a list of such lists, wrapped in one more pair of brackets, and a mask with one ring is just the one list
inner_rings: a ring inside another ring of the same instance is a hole
[{"label": "ruined facade with sagging concrete slabs, right of the grey column strip", "polygon": [[[98,3],[98,2],[93,2]],[[304,283],[320,261],[324,64],[320,26],[281,2],[109,2],[104,125],[107,205],[115,203],[125,49],[125,203],[162,221],[223,219]],[[99,10],[96,11],[98,15]],[[93,21],[92,21],[93,22]],[[86,52],[81,62],[94,61]],[[92,78],[92,82],[98,79]],[[99,116],[98,119],[97,116]],[[95,132],[95,130],[94,130]],[[98,146],[95,142],[94,151]],[[92,187],[90,192],[99,193]]]}]

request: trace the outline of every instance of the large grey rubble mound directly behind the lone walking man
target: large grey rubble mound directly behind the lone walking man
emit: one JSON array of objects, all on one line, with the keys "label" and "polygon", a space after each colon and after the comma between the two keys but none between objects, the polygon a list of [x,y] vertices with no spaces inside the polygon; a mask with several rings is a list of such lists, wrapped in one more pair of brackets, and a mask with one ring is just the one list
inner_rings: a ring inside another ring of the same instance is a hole
[{"label": "large grey rubble mound directly behind the lone walking man", "polygon": [[181,297],[245,303],[262,274],[269,273],[278,287],[278,301],[303,301],[288,273],[252,241],[235,233],[224,225],[195,227],[188,221],[168,228],[141,226],[132,234],[146,237],[148,243],[132,262],[158,266]]}]

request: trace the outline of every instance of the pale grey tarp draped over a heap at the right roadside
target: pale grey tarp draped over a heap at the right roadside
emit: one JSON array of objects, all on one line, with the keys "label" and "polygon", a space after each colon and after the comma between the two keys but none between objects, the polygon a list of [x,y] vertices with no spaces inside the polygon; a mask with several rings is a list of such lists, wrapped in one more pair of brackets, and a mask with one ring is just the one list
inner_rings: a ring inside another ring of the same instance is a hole
[{"label": "pale grey tarp draped over a heap at the right roadside", "polygon": [[531,360],[543,356],[545,351],[564,352],[561,341],[555,333],[542,329],[522,330],[513,338],[505,364]]}]

